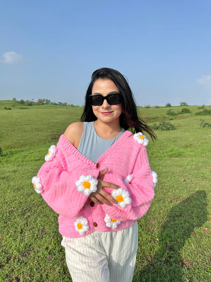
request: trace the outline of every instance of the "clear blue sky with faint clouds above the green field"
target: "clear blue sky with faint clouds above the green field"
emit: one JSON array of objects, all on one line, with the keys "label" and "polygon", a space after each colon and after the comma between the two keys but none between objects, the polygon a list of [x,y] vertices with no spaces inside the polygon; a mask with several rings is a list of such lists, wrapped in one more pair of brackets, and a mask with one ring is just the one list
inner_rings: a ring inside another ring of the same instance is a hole
[{"label": "clear blue sky with faint clouds above the green field", "polygon": [[211,105],[210,15],[210,0],[2,1],[0,100],[81,106],[109,67],[139,106]]}]

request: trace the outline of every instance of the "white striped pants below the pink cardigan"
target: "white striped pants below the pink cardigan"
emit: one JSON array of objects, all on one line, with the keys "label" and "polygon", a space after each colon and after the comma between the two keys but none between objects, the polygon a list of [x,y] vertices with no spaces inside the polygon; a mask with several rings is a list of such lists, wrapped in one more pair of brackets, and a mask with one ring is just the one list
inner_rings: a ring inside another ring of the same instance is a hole
[{"label": "white striped pants below the pink cardigan", "polygon": [[119,231],[63,236],[66,264],[74,282],[132,281],[138,246],[137,223]]}]

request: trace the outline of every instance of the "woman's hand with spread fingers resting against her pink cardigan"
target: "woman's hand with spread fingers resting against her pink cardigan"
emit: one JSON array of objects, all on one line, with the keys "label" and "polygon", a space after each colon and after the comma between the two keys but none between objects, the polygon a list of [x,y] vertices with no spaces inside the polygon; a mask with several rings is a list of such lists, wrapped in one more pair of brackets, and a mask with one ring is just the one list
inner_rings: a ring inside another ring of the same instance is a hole
[{"label": "woman's hand with spread fingers resting against her pink cardigan", "polygon": [[[114,199],[110,194],[108,194],[107,192],[105,192],[102,187],[110,187],[112,189],[118,189],[119,186],[114,184],[114,183],[111,183],[111,182],[106,182],[106,181],[103,181],[103,175],[105,173],[107,173],[108,171],[108,168],[104,169],[104,170],[101,170],[99,172],[99,175],[98,175],[98,183],[97,183],[97,191],[96,192],[92,192],[90,195],[89,195],[89,198],[96,204],[107,204],[109,206],[112,206],[112,203],[114,204],[118,204],[117,200]],[[112,203],[111,203],[112,202]]]}]

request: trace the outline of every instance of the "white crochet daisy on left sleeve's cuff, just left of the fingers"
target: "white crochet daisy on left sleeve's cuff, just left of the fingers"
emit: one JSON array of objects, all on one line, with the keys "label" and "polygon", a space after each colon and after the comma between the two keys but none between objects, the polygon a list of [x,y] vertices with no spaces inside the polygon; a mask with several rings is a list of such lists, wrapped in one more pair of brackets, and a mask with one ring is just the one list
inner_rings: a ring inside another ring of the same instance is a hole
[{"label": "white crochet daisy on left sleeve's cuff, just left of the fingers", "polygon": [[81,175],[79,180],[76,181],[76,186],[78,187],[78,192],[89,196],[92,192],[97,191],[97,183],[97,179],[92,175]]}]

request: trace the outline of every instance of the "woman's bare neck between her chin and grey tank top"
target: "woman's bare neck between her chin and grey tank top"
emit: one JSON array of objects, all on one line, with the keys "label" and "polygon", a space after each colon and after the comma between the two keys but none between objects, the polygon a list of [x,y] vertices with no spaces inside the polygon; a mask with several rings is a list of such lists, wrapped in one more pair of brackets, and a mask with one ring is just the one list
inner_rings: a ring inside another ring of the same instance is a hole
[{"label": "woman's bare neck between her chin and grey tank top", "polygon": [[116,137],[120,131],[120,123],[119,121],[111,122],[111,123],[104,123],[101,120],[97,119],[94,121],[94,128],[96,134],[104,139],[111,139]]}]

